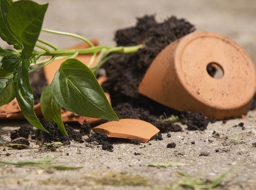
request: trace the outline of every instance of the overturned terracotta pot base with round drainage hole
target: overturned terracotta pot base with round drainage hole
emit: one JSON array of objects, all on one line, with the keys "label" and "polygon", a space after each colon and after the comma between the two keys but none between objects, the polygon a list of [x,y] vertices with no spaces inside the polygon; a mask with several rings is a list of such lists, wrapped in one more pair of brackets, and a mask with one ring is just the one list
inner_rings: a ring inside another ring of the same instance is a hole
[{"label": "overturned terracotta pot base with round drainage hole", "polygon": [[[223,70],[222,78],[208,74],[209,63]],[[255,90],[250,57],[236,42],[215,32],[193,32],[168,45],[139,86],[140,94],[163,105],[217,119],[246,114]]]}]

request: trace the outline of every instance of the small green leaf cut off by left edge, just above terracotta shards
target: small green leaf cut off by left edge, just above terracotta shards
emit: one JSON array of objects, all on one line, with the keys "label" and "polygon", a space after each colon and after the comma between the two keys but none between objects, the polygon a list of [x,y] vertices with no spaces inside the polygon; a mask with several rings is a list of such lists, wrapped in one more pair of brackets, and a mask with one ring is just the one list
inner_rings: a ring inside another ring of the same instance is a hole
[{"label": "small green leaf cut off by left edge, just above terracotta shards", "polygon": [[0,79],[0,106],[9,103],[15,98],[15,86],[13,81]]}]

